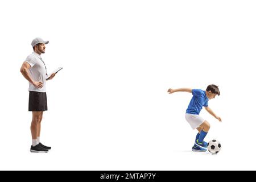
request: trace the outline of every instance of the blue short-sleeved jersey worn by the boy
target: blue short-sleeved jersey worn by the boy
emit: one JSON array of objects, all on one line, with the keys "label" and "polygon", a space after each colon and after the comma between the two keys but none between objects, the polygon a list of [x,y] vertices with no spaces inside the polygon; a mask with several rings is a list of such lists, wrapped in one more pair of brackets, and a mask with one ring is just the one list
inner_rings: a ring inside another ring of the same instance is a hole
[{"label": "blue short-sleeved jersey worn by the boy", "polygon": [[188,105],[186,113],[199,115],[203,106],[208,107],[209,99],[207,98],[205,91],[201,89],[192,89],[192,94],[193,97]]}]

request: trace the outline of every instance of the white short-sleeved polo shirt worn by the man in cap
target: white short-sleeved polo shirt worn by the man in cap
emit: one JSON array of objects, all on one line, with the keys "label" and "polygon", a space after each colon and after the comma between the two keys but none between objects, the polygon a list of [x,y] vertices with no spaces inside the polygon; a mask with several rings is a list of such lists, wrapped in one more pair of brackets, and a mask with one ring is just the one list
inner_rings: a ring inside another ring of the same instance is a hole
[{"label": "white short-sleeved polo shirt worn by the man in cap", "polygon": [[28,88],[28,91],[46,92],[46,73],[47,72],[46,72],[46,67],[44,63],[40,58],[41,56],[38,53],[32,52],[31,55],[27,56],[27,59],[25,60],[31,66],[31,68],[28,71],[30,72],[30,76],[32,77],[32,80],[43,83],[42,88],[36,88],[34,85],[32,85],[29,82],[30,86]]}]

